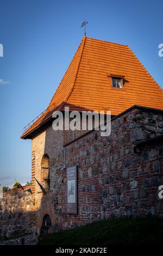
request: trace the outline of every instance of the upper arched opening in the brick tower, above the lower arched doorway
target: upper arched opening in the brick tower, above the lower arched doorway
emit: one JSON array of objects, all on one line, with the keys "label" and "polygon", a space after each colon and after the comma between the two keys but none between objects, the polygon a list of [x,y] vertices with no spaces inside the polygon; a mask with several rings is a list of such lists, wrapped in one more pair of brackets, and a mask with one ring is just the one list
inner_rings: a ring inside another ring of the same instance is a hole
[{"label": "upper arched opening in the brick tower, above the lower arched doorway", "polygon": [[50,189],[50,172],[49,172],[49,157],[47,154],[43,155],[41,160],[41,178],[42,184],[46,190]]}]

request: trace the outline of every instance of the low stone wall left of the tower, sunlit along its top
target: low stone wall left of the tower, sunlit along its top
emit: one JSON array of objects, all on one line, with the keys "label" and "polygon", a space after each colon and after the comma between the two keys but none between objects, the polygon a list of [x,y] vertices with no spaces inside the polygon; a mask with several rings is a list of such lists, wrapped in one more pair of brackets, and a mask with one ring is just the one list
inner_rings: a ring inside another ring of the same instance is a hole
[{"label": "low stone wall left of the tower, sunlit along its top", "polygon": [[[30,185],[24,190],[30,190]],[[32,194],[21,189],[3,193],[3,199],[0,199],[0,237],[34,232],[30,200],[33,200]]]}]

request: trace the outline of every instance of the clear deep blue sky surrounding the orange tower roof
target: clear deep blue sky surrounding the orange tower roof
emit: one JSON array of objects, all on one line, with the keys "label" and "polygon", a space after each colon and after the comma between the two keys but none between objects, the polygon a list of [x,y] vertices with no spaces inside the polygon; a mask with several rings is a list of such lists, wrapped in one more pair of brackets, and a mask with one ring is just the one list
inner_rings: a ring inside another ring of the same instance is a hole
[{"label": "clear deep blue sky surrounding the orange tower roof", "polygon": [[83,38],[129,45],[163,88],[163,2],[0,0],[0,184],[30,181],[31,141],[23,127],[47,107]]}]

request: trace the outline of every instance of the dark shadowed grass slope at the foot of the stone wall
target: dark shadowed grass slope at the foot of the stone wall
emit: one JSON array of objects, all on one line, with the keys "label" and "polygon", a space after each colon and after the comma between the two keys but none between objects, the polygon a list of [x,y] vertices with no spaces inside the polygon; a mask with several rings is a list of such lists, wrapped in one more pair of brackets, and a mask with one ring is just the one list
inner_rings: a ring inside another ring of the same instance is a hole
[{"label": "dark shadowed grass slope at the foot of the stone wall", "polygon": [[38,245],[161,245],[163,219],[116,218],[45,236]]}]

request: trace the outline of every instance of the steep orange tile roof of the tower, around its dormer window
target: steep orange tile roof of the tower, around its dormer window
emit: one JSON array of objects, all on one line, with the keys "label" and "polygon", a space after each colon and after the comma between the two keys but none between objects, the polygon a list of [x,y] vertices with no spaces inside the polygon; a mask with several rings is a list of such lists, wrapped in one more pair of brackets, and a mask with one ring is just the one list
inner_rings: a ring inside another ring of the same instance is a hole
[{"label": "steep orange tile roof of the tower, around its dormer window", "polygon": [[[124,89],[111,88],[109,74],[125,76]],[[163,91],[127,45],[84,36],[48,108],[21,138],[65,105],[112,115],[133,105],[163,109]]]}]

